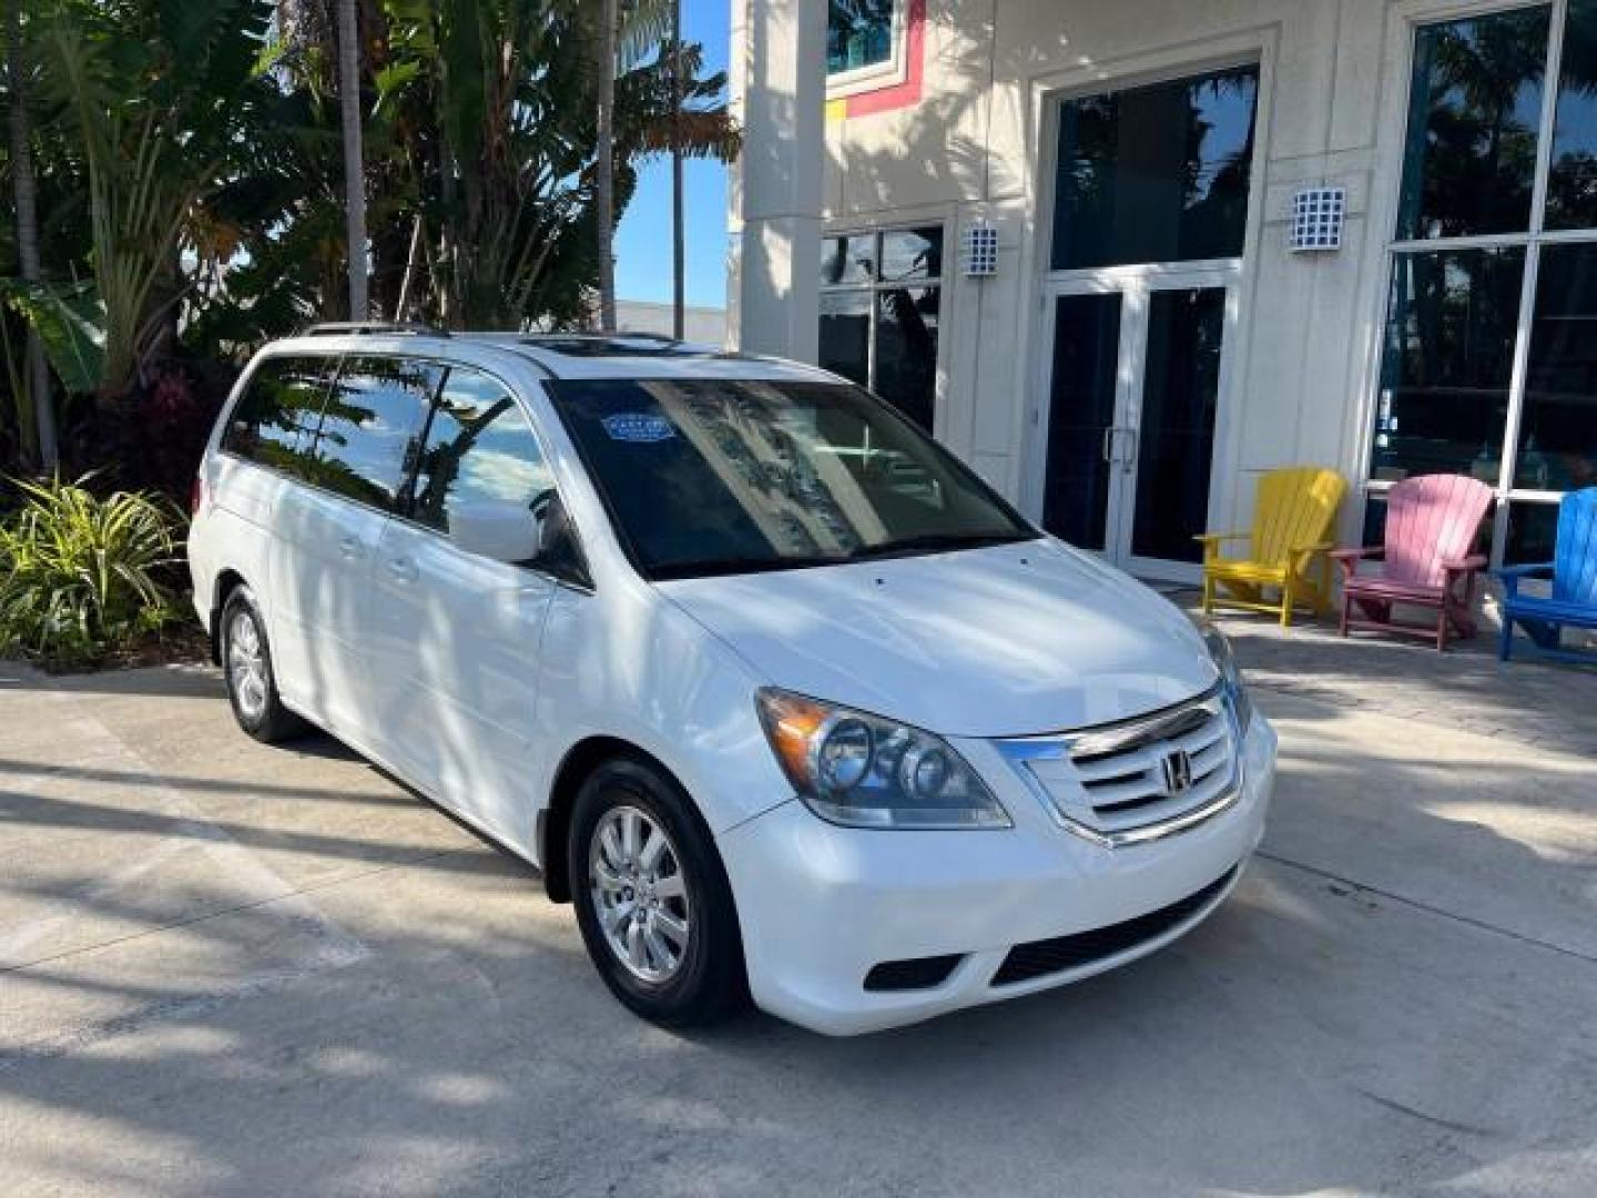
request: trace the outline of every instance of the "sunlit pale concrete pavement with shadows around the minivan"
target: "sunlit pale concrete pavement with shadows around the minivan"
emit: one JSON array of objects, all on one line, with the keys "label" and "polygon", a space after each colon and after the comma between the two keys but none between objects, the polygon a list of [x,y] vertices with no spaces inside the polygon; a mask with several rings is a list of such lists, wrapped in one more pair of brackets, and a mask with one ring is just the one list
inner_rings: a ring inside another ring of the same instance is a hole
[{"label": "sunlit pale concrete pavement with shadows around the minivan", "polygon": [[1282,740],[1234,901],[851,1041],[636,1021],[532,871],[208,669],[0,666],[0,1193],[1597,1192],[1597,676],[1461,719],[1484,658],[1231,626]]}]

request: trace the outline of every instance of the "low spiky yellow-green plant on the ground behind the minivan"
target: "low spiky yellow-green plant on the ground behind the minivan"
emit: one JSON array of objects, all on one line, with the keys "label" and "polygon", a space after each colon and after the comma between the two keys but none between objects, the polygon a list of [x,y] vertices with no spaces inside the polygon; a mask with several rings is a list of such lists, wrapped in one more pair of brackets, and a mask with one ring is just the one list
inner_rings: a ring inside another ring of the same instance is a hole
[{"label": "low spiky yellow-green plant on the ground behind the minivan", "polygon": [[78,482],[16,482],[0,524],[0,652],[89,661],[177,617],[164,581],[182,514],[145,492],[99,497]]}]

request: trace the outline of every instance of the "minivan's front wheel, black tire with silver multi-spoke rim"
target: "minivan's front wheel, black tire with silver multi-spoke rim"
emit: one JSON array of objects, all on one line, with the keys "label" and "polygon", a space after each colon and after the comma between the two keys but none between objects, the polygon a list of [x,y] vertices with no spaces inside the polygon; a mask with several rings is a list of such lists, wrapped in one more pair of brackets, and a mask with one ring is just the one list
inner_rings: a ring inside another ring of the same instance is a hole
[{"label": "minivan's front wheel, black tire with silver multi-spoke rim", "polygon": [[637,760],[600,765],[577,795],[567,864],[588,955],[629,1010],[704,1027],[747,1003],[731,885],[676,781]]}]

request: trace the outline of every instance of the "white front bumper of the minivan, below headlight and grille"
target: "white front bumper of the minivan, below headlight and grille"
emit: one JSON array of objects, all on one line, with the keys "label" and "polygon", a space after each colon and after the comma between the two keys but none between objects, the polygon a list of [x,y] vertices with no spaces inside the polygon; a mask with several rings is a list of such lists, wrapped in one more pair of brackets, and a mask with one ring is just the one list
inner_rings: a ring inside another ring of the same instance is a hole
[{"label": "white front bumper of the minivan, below headlight and grille", "polygon": [[[993,786],[1012,829],[846,829],[794,800],[720,839],[759,1006],[816,1032],[854,1035],[1132,962],[1225,901],[1263,837],[1274,789],[1276,733],[1258,716],[1244,741],[1242,792],[1231,807],[1163,840],[1104,848],[1062,831],[992,744],[957,748]],[[1206,890],[1201,902],[1179,906]],[[1155,918],[1153,934],[1089,963],[995,982],[1016,946],[1161,910],[1180,918]],[[947,955],[960,962],[939,984],[866,989],[877,965]]]}]

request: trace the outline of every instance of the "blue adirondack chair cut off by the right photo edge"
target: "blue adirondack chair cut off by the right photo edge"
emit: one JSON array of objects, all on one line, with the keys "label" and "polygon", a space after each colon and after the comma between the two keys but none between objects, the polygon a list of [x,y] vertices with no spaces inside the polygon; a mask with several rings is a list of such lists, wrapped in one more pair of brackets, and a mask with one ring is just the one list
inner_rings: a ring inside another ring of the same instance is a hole
[{"label": "blue adirondack chair cut off by the right photo edge", "polygon": [[[1597,487],[1563,497],[1557,554],[1546,565],[1498,572],[1504,589],[1498,657],[1504,661],[1514,652],[1514,625],[1519,625],[1544,657],[1597,664],[1597,653],[1562,649],[1565,628],[1597,628]],[[1551,578],[1552,594],[1520,594],[1525,578]]]}]

